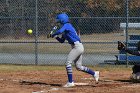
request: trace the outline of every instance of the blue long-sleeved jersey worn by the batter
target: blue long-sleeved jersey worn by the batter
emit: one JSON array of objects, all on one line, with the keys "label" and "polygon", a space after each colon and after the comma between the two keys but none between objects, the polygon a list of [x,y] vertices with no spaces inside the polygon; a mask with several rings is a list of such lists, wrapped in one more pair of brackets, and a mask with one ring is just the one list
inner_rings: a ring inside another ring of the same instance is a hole
[{"label": "blue long-sleeved jersey worn by the batter", "polygon": [[[63,33],[63,34],[62,34]],[[69,44],[73,44],[76,41],[81,42],[79,36],[77,35],[77,32],[75,28],[72,26],[71,23],[66,23],[60,28],[58,31],[56,31],[53,36],[62,34],[62,38],[56,38],[59,42],[63,43],[65,39],[68,41]]]}]

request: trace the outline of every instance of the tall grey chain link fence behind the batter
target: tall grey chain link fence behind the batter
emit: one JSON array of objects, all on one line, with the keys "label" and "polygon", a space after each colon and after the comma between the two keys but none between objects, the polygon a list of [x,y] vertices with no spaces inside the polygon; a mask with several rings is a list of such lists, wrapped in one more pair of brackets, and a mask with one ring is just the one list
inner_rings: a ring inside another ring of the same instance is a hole
[{"label": "tall grey chain link fence behind the batter", "polygon": [[47,39],[62,12],[80,34],[85,65],[116,62],[117,41],[140,35],[138,28],[127,27],[140,22],[139,0],[0,0],[0,63],[64,65],[71,47]]}]

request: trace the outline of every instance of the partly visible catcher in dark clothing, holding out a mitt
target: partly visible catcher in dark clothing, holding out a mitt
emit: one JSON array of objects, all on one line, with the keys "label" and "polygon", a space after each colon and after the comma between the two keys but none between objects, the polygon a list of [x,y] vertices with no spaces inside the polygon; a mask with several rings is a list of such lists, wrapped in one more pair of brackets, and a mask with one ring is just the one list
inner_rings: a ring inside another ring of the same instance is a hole
[{"label": "partly visible catcher in dark clothing, holding out a mitt", "polygon": [[[137,43],[137,50],[130,50],[126,48],[126,45],[123,42],[118,41],[118,50],[125,50],[129,54],[140,56],[140,41]],[[132,67],[132,71],[131,79],[140,79],[137,78],[140,77],[140,64],[135,64]]]}]

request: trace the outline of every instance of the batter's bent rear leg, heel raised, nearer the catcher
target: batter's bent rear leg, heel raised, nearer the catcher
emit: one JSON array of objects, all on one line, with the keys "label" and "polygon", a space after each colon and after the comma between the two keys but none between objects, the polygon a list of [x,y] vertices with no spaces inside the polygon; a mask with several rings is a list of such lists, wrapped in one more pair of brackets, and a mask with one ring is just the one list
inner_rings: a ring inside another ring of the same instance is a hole
[{"label": "batter's bent rear leg, heel raised, nearer the catcher", "polygon": [[93,71],[93,70],[89,69],[88,67],[83,66],[82,65],[82,54],[74,61],[74,63],[75,63],[77,70],[83,71],[83,72],[86,72],[86,73],[92,75],[95,78],[96,82],[98,82],[99,71]]}]

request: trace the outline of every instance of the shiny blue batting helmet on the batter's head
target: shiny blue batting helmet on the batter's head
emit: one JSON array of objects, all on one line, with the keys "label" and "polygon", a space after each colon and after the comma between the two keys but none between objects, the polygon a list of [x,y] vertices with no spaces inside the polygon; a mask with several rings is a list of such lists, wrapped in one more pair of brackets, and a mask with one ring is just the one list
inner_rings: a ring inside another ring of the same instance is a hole
[{"label": "shiny blue batting helmet on the batter's head", "polygon": [[65,24],[65,23],[69,22],[69,17],[65,13],[58,14],[56,17],[56,21],[60,22],[61,24]]}]

